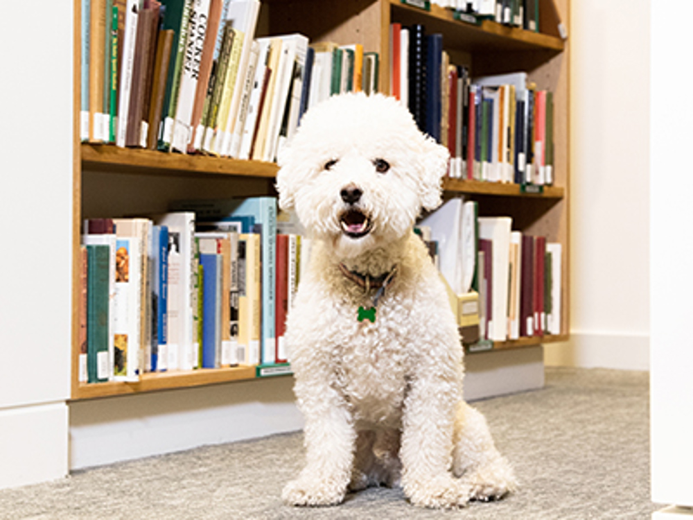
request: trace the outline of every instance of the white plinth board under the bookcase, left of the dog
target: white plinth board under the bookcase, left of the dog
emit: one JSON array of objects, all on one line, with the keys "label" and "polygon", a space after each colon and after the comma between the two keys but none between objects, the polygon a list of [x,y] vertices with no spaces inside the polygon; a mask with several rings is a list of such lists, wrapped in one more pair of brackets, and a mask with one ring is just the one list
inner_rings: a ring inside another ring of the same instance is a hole
[{"label": "white plinth board under the bookcase, left of the dog", "polygon": [[303,428],[293,379],[277,377],[70,404],[70,469]]}]

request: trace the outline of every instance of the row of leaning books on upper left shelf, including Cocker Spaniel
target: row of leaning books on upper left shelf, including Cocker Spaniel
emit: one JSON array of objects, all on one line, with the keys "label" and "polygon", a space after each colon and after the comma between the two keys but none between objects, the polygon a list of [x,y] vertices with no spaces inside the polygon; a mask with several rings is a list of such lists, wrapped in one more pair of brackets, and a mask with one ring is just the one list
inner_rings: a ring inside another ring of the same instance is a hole
[{"label": "row of leaning books on upper left shelf, including Cocker Spaniel", "polygon": [[83,0],[83,141],[274,161],[315,103],[378,89],[377,53],[255,37],[258,0]]}]

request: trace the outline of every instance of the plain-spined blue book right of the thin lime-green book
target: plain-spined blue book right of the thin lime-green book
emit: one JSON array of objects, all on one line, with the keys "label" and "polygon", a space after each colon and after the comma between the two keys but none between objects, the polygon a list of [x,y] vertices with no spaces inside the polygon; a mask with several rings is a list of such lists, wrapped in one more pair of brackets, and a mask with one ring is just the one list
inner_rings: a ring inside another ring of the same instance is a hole
[{"label": "plain-spined blue book right of the thin lime-green book", "polygon": [[221,350],[222,255],[200,253],[202,266],[202,368],[216,368]]}]

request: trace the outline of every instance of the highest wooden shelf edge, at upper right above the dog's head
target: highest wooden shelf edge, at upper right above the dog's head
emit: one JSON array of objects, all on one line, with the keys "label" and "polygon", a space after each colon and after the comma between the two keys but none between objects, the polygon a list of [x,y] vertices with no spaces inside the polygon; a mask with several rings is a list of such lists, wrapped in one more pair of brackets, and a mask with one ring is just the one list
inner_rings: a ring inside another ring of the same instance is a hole
[{"label": "highest wooden shelf edge, at upper right above the dog's head", "polygon": [[401,8],[408,10],[410,12],[416,12],[423,17],[430,17],[440,21],[445,21],[446,23],[456,24],[460,28],[466,28],[468,31],[476,31],[477,33],[486,33],[488,35],[493,35],[500,37],[504,40],[519,42],[521,44],[534,46],[537,49],[547,49],[550,51],[563,51],[565,48],[565,43],[561,38],[552,35],[547,35],[545,33],[534,33],[532,31],[526,31],[525,29],[519,27],[509,27],[503,24],[498,24],[495,21],[483,20],[481,25],[468,24],[465,21],[460,21],[455,19],[453,10],[448,8],[443,8],[441,6],[436,6],[431,3],[430,11],[423,10],[414,6],[409,6],[402,3],[401,0],[389,0],[391,6],[396,8]]}]

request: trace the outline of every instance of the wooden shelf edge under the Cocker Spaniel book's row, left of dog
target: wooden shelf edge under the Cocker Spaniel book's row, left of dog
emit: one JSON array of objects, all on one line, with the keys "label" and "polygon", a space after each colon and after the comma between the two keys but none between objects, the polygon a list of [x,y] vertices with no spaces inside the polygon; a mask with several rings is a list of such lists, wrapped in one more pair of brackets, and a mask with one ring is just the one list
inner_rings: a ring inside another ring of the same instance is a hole
[{"label": "wooden shelf edge under the Cocker Spaniel book's row, left of dog", "polygon": [[164,153],[112,144],[82,143],[82,170],[152,175],[233,175],[272,179],[279,166],[270,162],[245,161],[209,155]]}]

